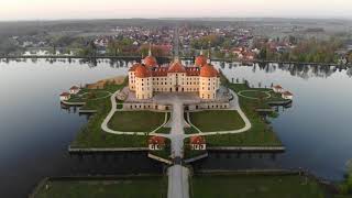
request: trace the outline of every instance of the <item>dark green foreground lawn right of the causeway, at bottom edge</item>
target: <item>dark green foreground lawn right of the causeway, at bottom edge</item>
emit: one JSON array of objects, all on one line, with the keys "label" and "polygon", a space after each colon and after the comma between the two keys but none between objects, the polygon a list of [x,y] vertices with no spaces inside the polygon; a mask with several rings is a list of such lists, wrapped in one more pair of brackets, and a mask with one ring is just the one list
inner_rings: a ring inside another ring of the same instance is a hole
[{"label": "dark green foreground lawn right of the causeway, at bottom edge", "polygon": [[323,198],[324,190],[300,176],[195,176],[193,197],[198,198]]}]

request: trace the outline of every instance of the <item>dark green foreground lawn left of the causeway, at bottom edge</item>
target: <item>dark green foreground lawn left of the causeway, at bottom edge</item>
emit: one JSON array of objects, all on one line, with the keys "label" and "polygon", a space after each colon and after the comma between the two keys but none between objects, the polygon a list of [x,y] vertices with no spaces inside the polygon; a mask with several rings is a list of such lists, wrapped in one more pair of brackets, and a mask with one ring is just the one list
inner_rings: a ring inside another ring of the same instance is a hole
[{"label": "dark green foreground lawn left of the causeway, at bottom edge", "polygon": [[48,182],[34,198],[155,198],[167,194],[163,177],[132,177],[116,180]]}]

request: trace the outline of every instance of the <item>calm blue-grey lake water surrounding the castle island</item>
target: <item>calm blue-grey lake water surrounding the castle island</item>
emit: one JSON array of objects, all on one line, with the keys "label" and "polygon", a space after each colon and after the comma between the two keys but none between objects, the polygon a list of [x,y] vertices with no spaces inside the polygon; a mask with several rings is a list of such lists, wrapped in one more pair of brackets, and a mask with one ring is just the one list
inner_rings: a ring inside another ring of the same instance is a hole
[{"label": "calm blue-grey lake water surrounding the castle island", "polygon": [[[131,63],[74,59],[0,63],[0,197],[25,197],[46,176],[161,173],[143,154],[69,156],[67,146],[87,117],[61,109],[58,95],[73,85],[125,75]],[[285,167],[341,179],[352,158],[352,70],[318,67],[237,66],[215,63],[231,80],[257,87],[280,84],[294,95],[272,121],[287,151],[279,155],[210,154],[196,168]]]}]

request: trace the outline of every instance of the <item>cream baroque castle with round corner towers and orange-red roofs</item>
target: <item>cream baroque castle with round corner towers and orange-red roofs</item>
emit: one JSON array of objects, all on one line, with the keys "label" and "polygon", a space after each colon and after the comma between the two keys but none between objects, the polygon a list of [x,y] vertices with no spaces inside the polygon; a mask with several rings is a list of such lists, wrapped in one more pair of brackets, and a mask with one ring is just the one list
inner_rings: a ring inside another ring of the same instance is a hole
[{"label": "cream baroque castle with round corner towers and orange-red roofs", "polygon": [[150,99],[155,92],[197,92],[201,99],[213,100],[219,87],[219,72],[202,52],[194,66],[184,66],[178,57],[158,65],[150,48],[148,56],[129,69],[129,88],[136,99]]}]

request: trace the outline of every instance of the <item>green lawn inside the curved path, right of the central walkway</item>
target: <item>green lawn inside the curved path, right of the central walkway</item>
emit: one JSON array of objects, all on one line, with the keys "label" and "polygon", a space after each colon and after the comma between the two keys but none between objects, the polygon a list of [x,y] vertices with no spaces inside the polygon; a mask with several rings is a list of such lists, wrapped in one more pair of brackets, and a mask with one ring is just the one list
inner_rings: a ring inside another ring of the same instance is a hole
[{"label": "green lawn inside the curved path, right of the central walkway", "polygon": [[200,111],[191,112],[190,122],[202,132],[238,130],[244,127],[244,121],[238,111]]}]

